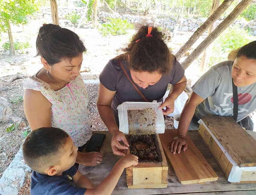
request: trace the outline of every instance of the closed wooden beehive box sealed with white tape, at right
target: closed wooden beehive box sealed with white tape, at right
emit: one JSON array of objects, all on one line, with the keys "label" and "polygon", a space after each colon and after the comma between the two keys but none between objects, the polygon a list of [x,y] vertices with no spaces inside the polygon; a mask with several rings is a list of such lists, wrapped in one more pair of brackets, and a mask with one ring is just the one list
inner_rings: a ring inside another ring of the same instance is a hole
[{"label": "closed wooden beehive box sealed with white tape, at right", "polygon": [[256,183],[256,140],[232,117],[205,116],[199,134],[229,182]]}]

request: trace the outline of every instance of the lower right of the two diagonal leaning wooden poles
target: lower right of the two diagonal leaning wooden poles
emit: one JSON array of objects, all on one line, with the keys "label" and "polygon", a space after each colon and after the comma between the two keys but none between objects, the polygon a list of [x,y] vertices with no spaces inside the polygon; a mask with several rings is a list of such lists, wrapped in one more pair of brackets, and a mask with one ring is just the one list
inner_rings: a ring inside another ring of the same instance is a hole
[{"label": "lower right of the two diagonal leaning wooden poles", "polygon": [[[183,61],[183,68],[187,68],[200,54],[208,47],[219,35],[222,33],[234,20],[239,16],[242,11],[251,3],[252,0],[242,0],[235,9],[217,26],[216,29],[202,41],[201,44]],[[215,11],[216,12],[216,11]],[[215,13],[214,12],[214,13]]]}]

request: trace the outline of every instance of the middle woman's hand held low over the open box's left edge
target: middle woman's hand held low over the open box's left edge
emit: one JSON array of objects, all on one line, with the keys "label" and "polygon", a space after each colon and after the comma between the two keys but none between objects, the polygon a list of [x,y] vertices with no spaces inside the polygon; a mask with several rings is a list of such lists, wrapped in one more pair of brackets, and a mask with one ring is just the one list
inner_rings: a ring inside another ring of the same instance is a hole
[{"label": "middle woman's hand held low over the open box's left edge", "polygon": [[[122,146],[119,142],[123,141],[124,146]],[[114,155],[119,155],[119,156],[125,156],[125,153],[119,151],[121,150],[128,150],[129,144],[124,136],[124,134],[120,131],[116,131],[112,135],[111,139],[111,148],[114,153]]]}]

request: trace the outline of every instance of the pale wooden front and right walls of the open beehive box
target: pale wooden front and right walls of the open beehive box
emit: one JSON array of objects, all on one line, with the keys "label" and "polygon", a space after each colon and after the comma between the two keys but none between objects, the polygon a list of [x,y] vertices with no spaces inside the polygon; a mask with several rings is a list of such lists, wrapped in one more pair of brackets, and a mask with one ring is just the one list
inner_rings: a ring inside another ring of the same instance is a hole
[{"label": "pale wooden front and right walls of the open beehive box", "polygon": [[[139,163],[126,168],[128,188],[163,188],[167,187],[168,165],[158,134],[157,141],[162,155],[162,163]],[[127,151],[129,153],[130,151]]]}]

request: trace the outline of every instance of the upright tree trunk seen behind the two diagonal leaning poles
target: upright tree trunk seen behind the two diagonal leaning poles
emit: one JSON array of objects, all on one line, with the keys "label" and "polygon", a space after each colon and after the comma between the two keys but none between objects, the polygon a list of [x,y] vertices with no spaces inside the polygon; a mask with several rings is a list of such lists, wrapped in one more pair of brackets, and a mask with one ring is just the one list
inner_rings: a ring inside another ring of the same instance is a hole
[{"label": "upright tree trunk seen behind the two diagonal leaning poles", "polygon": [[[212,5],[211,5],[211,14],[214,13],[215,10],[217,10],[217,8],[220,5],[220,0],[213,0],[212,1]],[[214,23],[211,24],[208,28],[208,35],[211,34],[212,29],[214,28]],[[209,59],[210,59],[210,53],[212,51],[212,45],[209,45],[209,47],[207,47],[202,55],[202,61],[201,61],[201,68],[200,68],[200,72],[203,73],[204,71],[206,71],[207,69],[207,64],[209,63]]]}]

